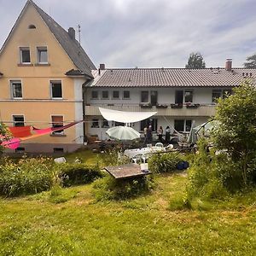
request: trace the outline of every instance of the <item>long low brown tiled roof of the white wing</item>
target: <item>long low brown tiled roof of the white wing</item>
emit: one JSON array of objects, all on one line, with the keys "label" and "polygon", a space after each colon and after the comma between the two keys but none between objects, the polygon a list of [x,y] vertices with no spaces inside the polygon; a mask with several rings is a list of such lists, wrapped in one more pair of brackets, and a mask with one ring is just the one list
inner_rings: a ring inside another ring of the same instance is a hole
[{"label": "long low brown tiled roof of the white wing", "polygon": [[107,69],[90,85],[94,87],[226,87],[245,79],[255,84],[256,69],[233,68],[122,68]]}]

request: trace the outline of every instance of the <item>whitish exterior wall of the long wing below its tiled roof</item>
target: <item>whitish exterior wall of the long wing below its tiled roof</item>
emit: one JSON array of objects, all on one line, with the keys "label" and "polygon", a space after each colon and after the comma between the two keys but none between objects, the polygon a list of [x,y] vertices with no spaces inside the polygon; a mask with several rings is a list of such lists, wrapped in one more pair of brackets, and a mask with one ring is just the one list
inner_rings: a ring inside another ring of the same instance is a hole
[{"label": "whitish exterior wall of the long wing below its tiled roof", "polygon": [[[195,125],[201,125],[207,122],[210,117],[215,114],[215,103],[212,102],[212,90],[217,89],[214,87],[184,87],[184,88],[88,88],[86,91],[86,105],[84,106],[84,113],[87,117],[86,134],[97,135],[99,139],[108,139],[106,131],[108,128],[102,128],[102,115],[99,112],[99,107],[115,109],[119,111],[130,112],[157,112],[152,119],[157,119],[157,128],[160,125],[163,129],[169,125],[173,132],[174,120],[192,120],[195,121]],[[228,89],[218,88],[221,90]],[[91,99],[91,91],[98,90],[98,99]],[[108,99],[102,99],[102,90],[108,90]],[[113,100],[113,90],[119,90],[119,100]],[[130,90],[130,99],[122,99],[123,90]],[[155,106],[151,108],[143,108],[141,103],[141,91],[142,90],[157,90],[158,91],[158,103],[166,104],[166,108],[157,108]],[[175,103],[175,91],[176,90],[193,90],[193,103],[200,104],[198,108],[187,108],[185,104],[181,108],[171,108],[171,104]],[[99,120],[99,128],[93,128],[92,119]],[[113,122],[108,122],[109,127],[113,126]],[[135,123],[133,128],[140,131],[143,137],[143,131],[141,131],[140,122]],[[186,134],[188,132],[184,132]],[[154,132],[154,137],[157,137],[157,133]]]}]

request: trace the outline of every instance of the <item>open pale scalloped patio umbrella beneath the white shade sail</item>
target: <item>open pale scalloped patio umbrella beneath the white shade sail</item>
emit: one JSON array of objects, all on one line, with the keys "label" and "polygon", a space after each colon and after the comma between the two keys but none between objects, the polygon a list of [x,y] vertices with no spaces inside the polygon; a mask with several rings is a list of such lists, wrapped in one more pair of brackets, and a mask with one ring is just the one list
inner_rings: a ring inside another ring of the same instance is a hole
[{"label": "open pale scalloped patio umbrella beneath the white shade sail", "polygon": [[106,131],[109,137],[119,141],[133,141],[141,137],[140,133],[128,126],[115,126]]}]

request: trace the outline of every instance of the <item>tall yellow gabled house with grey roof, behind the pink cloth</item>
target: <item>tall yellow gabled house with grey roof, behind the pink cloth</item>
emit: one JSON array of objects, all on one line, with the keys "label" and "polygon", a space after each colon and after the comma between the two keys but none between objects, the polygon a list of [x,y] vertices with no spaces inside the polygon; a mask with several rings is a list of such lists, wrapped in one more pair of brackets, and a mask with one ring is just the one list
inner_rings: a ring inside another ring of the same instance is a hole
[{"label": "tall yellow gabled house with grey roof, behind the pink cloth", "polygon": [[[27,1],[0,51],[1,121],[45,128],[84,119],[82,85],[92,69],[74,29]],[[84,143],[83,123],[26,142],[20,150],[73,151]]]}]

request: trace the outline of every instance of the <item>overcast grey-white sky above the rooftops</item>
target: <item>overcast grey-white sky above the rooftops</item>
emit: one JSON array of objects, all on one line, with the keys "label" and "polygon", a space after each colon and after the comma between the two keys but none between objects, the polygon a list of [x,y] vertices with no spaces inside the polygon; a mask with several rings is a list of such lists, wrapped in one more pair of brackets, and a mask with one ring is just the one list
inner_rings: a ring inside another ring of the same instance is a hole
[{"label": "overcast grey-white sky above the rooftops", "polygon": [[[200,51],[207,67],[241,67],[256,52],[255,0],[35,0],[106,67],[184,67]],[[3,45],[26,0],[0,0]]]}]

